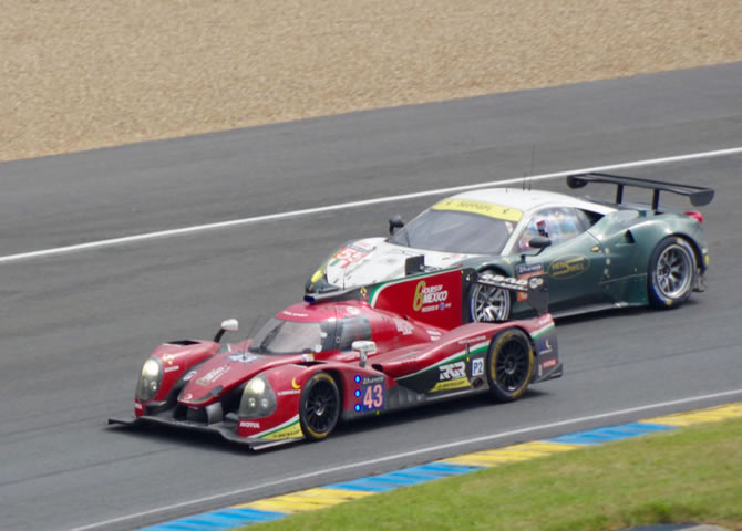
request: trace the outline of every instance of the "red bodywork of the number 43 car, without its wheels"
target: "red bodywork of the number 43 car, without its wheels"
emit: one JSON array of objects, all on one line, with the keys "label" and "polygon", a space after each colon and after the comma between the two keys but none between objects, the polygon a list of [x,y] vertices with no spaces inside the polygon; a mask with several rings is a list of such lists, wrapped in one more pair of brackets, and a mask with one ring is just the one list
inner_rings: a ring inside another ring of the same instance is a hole
[{"label": "red bodywork of the number 43 car, without its wheels", "polygon": [[[487,351],[493,337],[509,329],[525,331],[533,342],[530,382],[561,375],[549,314],[462,324],[467,288],[465,271],[450,270],[360,288],[324,302],[293,304],[276,314],[279,324],[306,323],[327,331],[319,335],[322,344],[296,353],[264,353],[249,339],[224,345],[193,340],[163,344],[150,356],[162,367],[158,389],[152,398],[136,400],[135,419],[217,431],[254,448],[297,440],[305,436],[299,419],[302,389],[316,373],[327,373],[336,382],[346,420],[486,392]],[[349,347],[354,340],[375,343],[364,366],[359,352]],[[275,409],[246,418],[243,392],[257,375],[268,383]]]}]

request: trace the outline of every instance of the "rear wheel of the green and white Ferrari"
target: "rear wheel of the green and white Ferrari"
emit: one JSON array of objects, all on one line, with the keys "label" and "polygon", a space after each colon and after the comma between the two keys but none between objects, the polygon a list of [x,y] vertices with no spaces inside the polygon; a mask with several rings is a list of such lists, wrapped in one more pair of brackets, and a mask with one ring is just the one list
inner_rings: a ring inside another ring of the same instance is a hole
[{"label": "rear wheel of the green and white Ferrari", "polygon": [[695,284],[695,252],[683,238],[661,240],[647,269],[647,293],[655,308],[677,308],[688,300]]}]

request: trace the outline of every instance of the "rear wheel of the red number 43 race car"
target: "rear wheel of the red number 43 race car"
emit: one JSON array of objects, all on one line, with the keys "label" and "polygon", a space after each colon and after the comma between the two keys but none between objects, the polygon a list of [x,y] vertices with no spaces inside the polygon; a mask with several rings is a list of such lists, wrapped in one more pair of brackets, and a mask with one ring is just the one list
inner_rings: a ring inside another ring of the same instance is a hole
[{"label": "rear wheel of the red number 43 race car", "polygon": [[508,329],[497,334],[487,353],[487,383],[497,402],[513,402],[526,392],[534,375],[535,352],[528,334]]}]

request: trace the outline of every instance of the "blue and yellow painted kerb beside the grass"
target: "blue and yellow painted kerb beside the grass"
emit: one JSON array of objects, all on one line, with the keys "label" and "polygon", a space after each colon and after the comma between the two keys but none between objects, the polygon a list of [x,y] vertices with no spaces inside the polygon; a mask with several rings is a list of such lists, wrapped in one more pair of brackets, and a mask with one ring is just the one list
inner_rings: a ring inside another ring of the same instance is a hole
[{"label": "blue and yellow painted kerb beside the grass", "polygon": [[276,520],[297,512],[324,509],[346,501],[373,496],[377,492],[387,492],[399,487],[473,472],[497,465],[525,461],[608,441],[640,437],[684,426],[719,423],[730,418],[742,418],[742,402],[646,418],[637,423],[576,431],[550,439],[521,442],[503,448],[462,454],[427,465],[300,490],[142,529],[146,531],[229,530],[255,522]]}]

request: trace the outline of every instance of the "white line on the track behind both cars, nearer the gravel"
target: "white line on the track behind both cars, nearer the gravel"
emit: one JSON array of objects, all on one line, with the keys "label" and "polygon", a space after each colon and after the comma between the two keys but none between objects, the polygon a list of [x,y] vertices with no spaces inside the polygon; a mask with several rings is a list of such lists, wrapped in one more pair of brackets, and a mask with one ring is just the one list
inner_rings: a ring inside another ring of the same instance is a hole
[{"label": "white line on the track behind both cars, nearer the gravel", "polygon": [[[711,158],[711,157],[723,157],[726,155],[736,155],[742,153],[742,147],[732,147],[729,149],[718,149],[714,152],[701,152],[701,153],[691,153],[687,155],[677,155],[672,157],[662,157],[662,158],[650,158],[646,160],[635,160],[631,163],[622,163],[622,164],[612,164],[609,166],[595,166],[591,168],[581,168],[581,169],[570,169],[568,171],[556,171],[553,174],[542,174],[542,175],[534,175],[530,177],[527,177],[528,180],[534,181],[534,180],[546,180],[546,179],[555,179],[558,177],[566,177],[568,175],[574,175],[574,174],[588,174],[591,171],[608,171],[608,170],[615,170],[615,169],[626,169],[626,168],[636,168],[640,166],[657,166],[660,164],[670,164],[670,163],[681,163],[681,162],[687,162],[687,160],[695,160],[699,158]],[[302,210],[292,210],[290,212],[280,212],[280,214],[269,214],[266,216],[256,216],[254,218],[243,218],[243,219],[233,219],[229,221],[219,221],[216,223],[206,223],[206,225],[196,225],[193,227],[183,227],[179,229],[169,229],[169,230],[161,230],[157,232],[146,232],[143,235],[134,235],[134,236],[124,236],[121,238],[112,238],[109,240],[100,240],[100,241],[91,241],[87,243],[79,243],[75,246],[66,246],[66,247],[56,247],[52,249],[42,249],[39,251],[31,251],[31,252],[21,252],[19,254],[8,254],[4,257],[0,257],[0,263],[8,263],[8,262],[17,262],[20,260],[30,260],[33,258],[45,258],[45,257],[52,257],[55,254],[68,254],[71,252],[79,252],[79,251],[87,251],[92,249],[100,249],[103,247],[113,247],[113,246],[122,246],[122,244],[127,244],[127,243],[135,243],[138,241],[145,241],[145,240],[153,240],[157,238],[171,238],[171,237],[176,237],[176,236],[183,236],[183,235],[190,235],[194,232],[205,232],[207,230],[218,230],[218,229],[228,229],[231,227],[240,227],[244,225],[253,225],[253,223],[260,223],[265,221],[277,221],[281,219],[288,219],[288,218],[296,218],[299,216],[310,216],[313,214],[321,214],[321,212],[331,212],[333,210],[343,210],[343,209],[350,209],[350,208],[359,208],[359,207],[368,207],[370,205],[380,205],[383,202],[394,202],[394,201],[403,201],[406,199],[414,199],[418,197],[425,197],[425,196],[439,196],[443,194],[454,194],[458,191],[464,191],[464,190],[473,190],[476,188],[486,188],[488,186],[502,186],[502,185],[512,185],[512,184],[518,184],[523,183],[524,177],[517,177],[514,179],[505,179],[505,180],[492,180],[488,183],[478,183],[475,185],[463,185],[463,186],[453,186],[450,188],[439,188],[435,190],[426,190],[426,191],[416,191],[413,194],[403,194],[401,196],[390,196],[390,197],[379,197],[377,199],[365,199],[361,201],[351,201],[351,202],[342,202],[339,205],[328,205],[326,207],[317,207],[317,208],[306,208]]]}]

